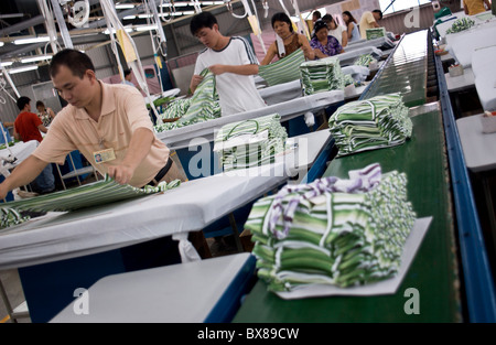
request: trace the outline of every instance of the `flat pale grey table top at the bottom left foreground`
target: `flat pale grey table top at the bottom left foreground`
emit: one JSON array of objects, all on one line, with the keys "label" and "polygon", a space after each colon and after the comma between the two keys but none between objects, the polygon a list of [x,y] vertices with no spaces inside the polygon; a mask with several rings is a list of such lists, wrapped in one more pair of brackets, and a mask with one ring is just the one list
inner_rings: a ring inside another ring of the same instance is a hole
[{"label": "flat pale grey table top at the bottom left foreground", "polygon": [[242,269],[250,254],[112,274],[88,290],[88,314],[73,303],[52,323],[201,323]]}]

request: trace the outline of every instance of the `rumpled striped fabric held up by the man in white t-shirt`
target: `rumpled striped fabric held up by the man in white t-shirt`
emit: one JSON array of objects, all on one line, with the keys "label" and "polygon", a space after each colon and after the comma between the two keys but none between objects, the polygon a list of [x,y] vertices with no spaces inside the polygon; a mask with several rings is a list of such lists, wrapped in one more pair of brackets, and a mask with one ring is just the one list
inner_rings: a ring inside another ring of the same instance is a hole
[{"label": "rumpled striped fabric held up by the man in white t-shirt", "polygon": [[203,76],[203,80],[196,87],[193,96],[188,99],[177,99],[171,103],[161,115],[161,119],[180,119],[174,122],[157,125],[155,130],[158,132],[220,117],[220,105],[215,88],[215,75],[208,68],[202,71],[200,75]]}]

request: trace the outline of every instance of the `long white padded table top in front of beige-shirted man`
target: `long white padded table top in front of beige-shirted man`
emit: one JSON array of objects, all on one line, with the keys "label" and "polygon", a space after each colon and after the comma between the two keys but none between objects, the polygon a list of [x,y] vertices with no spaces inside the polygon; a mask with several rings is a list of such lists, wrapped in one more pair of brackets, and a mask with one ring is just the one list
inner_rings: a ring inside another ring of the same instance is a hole
[{"label": "long white padded table top in front of beige-shirted man", "polygon": [[[79,209],[48,213],[0,230],[0,270],[117,249],[159,237],[201,230],[311,165],[331,132],[291,138],[293,151],[274,164],[197,179],[163,194]],[[208,158],[209,159],[209,158]]]}]

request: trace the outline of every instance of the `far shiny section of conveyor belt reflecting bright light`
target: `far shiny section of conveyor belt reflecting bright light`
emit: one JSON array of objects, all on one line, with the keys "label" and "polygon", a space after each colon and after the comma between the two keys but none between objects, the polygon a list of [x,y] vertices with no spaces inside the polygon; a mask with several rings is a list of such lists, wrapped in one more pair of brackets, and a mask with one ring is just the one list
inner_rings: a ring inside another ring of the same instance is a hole
[{"label": "far shiny section of conveyor belt reflecting bright light", "polygon": [[425,104],[428,31],[405,35],[360,99],[401,93],[408,107]]}]

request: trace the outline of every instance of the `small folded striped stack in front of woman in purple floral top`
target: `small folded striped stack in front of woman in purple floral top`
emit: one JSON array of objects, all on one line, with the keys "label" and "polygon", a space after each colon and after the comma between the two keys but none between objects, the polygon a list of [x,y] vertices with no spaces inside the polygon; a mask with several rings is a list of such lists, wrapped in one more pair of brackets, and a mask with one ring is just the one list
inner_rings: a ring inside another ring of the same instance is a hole
[{"label": "small folded striped stack in front of woman in purple floral top", "polygon": [[345,87],[345,76],[337,57],[304,62],[300,65],[300,74],[305,96]]}]

